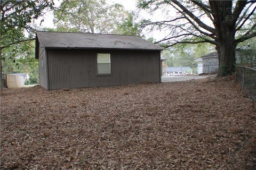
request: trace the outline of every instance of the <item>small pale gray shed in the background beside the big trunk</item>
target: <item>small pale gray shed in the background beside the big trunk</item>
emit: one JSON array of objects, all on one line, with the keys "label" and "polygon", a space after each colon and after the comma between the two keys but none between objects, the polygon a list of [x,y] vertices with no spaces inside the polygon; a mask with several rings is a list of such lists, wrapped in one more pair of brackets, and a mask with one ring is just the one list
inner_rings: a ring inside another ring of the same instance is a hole
[{"label": "small pale gray shed in the background beside the big trunk", "polygon": [[209,53],[207,55],[204,55],[197,60],[197,73],[216,73],[219,69],[219,59],[218,59],[218,53],[213,52]]}]

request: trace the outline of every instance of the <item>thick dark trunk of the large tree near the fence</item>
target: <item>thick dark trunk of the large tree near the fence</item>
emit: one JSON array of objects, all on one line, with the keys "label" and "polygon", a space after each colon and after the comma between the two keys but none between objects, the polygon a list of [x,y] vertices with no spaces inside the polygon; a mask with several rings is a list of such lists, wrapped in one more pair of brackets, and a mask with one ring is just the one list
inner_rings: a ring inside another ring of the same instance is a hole
[{"label": "thick dark trunk of the large tree near the fence", "polygon": [[[235,33],[236,25],[233,21],[232,1],[209,1],[214,26],[217,31],[217,52],[219,55],[218,77],[230,75],[235,71]],[[239,8],[246,5],[246,2],[239,2]]]}]

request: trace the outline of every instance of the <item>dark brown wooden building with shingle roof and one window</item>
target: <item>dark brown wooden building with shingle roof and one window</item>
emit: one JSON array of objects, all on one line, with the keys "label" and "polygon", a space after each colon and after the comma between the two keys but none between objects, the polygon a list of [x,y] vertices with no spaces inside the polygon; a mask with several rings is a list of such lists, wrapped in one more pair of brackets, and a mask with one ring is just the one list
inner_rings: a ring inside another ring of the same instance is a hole
[{"label": "dark brown wooden building with shingle roof and one window", "polygon": [[36,32],[39,80],[47,90],[161,82],[161,50],[139,36]]}]

